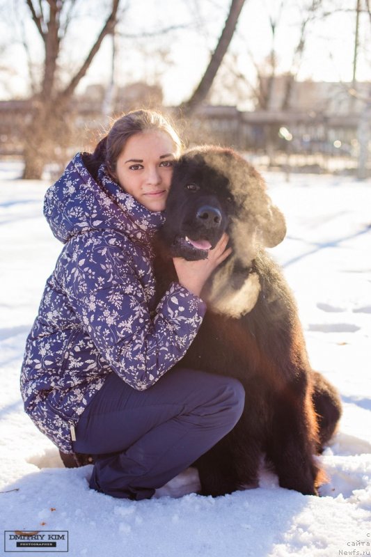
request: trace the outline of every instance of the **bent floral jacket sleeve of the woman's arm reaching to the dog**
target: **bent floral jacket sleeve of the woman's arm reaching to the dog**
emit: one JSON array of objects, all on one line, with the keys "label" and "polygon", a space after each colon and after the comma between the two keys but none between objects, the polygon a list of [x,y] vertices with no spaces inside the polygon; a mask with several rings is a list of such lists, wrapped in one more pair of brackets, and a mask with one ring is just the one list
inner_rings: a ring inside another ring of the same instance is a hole
[{"label": "bent floral jacket sleeve of the woman's arm reaching to the dog", "polygon": [[151,313],[148,299],[154,285],[141,281],[141,274],[150,272],[149,263],[142,257],[138,268],[129,249],[132,244],[125,246],[117,237],[104,237],[88,249],[75,242],[65,251],[61,268],[63,288],[83,329],[109,366],[141,391],[184,356],[206,306],[179,283],[171,283]]}]

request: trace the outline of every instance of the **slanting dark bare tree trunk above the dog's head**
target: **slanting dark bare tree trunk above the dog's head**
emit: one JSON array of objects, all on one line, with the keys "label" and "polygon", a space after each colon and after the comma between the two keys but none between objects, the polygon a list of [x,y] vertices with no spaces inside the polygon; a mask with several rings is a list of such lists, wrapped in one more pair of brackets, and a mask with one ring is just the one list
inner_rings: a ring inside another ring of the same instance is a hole
[{"label": "slanting dark bare tree trunk above the dog's head", "polygon": [[230,41],[235,33],[239,15],[244,7],[244,3],[245,0],[232,0],[230,3],[230,10],[226,19],[226,24],[224,25],[224,29],[221,33],[218,44],[216,45],[216,49],[210,58],[210,63],[205,70],[205,74],[203,74],[200,83],[189,100],[180,105],[180,109],[182,110],[184,116],[190,116],[191,113],[195,111],[196,107],[203,102],[207,93],[209,93],[214,77],[216,76],[216,72],[219,70],[223,57],[226,54]]}]

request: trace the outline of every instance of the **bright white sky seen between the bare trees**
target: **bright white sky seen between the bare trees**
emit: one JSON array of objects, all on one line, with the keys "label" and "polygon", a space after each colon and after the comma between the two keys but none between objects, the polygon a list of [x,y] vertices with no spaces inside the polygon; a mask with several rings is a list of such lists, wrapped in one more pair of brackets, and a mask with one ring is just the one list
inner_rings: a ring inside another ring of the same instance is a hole
[{"label": "bright white sky seen between the bare trees", "polygon": [[[306,13],[303,6],[311,3],[311,0],[283,1],[284,8],[276,31],[278,71],[290,70],[303,13]],[[363,0],[364,7],[365,3]],[[65,41],[61,56],[61,65],[67,68],[66,75],[71,75],[81,52],[88,51],[100,31],[106,17],[102,5],[108,4],[108,0],[77,2],[80,17],[70,26],[70,40]],[[122,36],[117,40],[116,83],[122,86],[143,79],[149,83],[161,81],[166,104],[185,100],[205,70],[210,51],[223,28],[230,0],[135,0],[128,5],[118,27]],[[228,64],[232,64],[237,65],[239,72],[246,74],[248,80],[254,80],[254,63],[263,63],[271,49],[269,16],[276,17],[280,5],[281,0],[246,0],[230,46],[235,58],[233,61],[231,58],[226,60],[227,70],[221,73],[223,79],[228,79]],[[308,26],[299,79],[351,81],[356,16],[354,11],[347,10],[354,10],[356,0],[323,0],[323,6],[330,15],[317,18]],[[336,13],[336,8],[343,11]],[[33,23],[27,22],[28,18],[23,15],[19,17],[19,13],[28,15],[25,9],[23,0],[0,0],[0,98],[24,95],[26,91],[28,72],[24,48],[20,42],[14,44],[14,37],[27,37],[35,70],[42,61],[40,38]],[[357,79],[365,81],[371,79],[371,25],[368,14],[363,13],[360,19]],[[22,21],[26,22],[23,30]],[[12,22],[17,22],[16,31]],[[145,40],[125,38],[128,33],[153,33],[169,26],[175,29],[165,36],[149,36]],[[177,26],[184,28],[177,29]],[[160,49],[162,55],[159,54]],[[162,62],[164,55],[166,66]],[[111,40],[106,38],[88,75],[81,82],[80,90],[88,84],[106,84],[109,81],[110,58]],[[10,71],[5,72],[4,68],[10,68]],[[226,100],[224,97],[226,95],[221,95]],[[230,104],[233,104],[232,98]]]}]

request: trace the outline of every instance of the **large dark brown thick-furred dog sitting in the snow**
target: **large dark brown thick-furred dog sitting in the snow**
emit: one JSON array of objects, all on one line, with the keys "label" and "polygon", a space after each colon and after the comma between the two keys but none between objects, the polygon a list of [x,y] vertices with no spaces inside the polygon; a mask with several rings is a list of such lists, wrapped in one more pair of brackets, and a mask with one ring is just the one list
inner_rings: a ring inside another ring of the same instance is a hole
[{"label": "large dark brown thick-furred dog sitting in the snow", "polygon": [[232,255],[203,289],[207,313],[178,365],[236,377],[246,402],[234,429],[194,463],[202,493],[257,485],[265,455],[282,487],[317,494],[324,475],[315,454],[341,407],[333,386],[310,368],[294,297],[265,251],[283,240],[285,220],[260,174],[237,153],[189,150],[175,164],[156,242],[159,297],[176,280],[171,258],[207,257],[225,230]]}]

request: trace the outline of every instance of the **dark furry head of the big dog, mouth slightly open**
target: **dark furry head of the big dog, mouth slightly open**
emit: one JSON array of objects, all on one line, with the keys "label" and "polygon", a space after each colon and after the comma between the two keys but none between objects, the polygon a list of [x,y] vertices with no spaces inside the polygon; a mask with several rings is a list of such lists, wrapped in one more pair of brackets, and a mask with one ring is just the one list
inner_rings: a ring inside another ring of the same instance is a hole
[{"label": "dark furry head of the big dog, mouth slightly open", "polygon": [[262,176],[230,149],[191,149],[175,163],[161,236],[171,256],[207,258],[224,232],[239,260],[285,237],[285,219],[267,195]]}]

